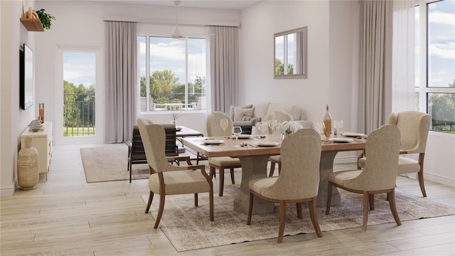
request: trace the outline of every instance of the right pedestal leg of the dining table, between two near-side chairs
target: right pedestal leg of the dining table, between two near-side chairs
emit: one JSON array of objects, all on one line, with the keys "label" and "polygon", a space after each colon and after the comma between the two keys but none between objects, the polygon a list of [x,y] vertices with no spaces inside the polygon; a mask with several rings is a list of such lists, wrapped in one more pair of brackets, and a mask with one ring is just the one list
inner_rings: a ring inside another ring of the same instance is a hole
[{"label": "right pedestal leg of the dining table, between two near-side chairs", "polygon": [[[338,151],[322,151],[321,161],[319,164],[319,191],[316,204],[318,207],[327,206],[327,189],[328,189],[328,176],[333,173],[333,159],[335,159]],[[340,193],[338,188],[332,187],[332,200],[331,206],[339,206],[341,203]]]}]

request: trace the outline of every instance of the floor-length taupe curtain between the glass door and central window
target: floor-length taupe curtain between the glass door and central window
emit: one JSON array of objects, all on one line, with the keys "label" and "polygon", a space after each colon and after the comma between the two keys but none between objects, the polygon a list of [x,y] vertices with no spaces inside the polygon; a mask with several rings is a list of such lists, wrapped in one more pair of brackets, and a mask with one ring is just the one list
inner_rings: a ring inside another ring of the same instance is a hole
[{"label": "floor-length taupe curtain between the glass door and central window", "polygon": [[105,21],[105,44],[105,142],[126,142],[137,115],[136,23]]}]

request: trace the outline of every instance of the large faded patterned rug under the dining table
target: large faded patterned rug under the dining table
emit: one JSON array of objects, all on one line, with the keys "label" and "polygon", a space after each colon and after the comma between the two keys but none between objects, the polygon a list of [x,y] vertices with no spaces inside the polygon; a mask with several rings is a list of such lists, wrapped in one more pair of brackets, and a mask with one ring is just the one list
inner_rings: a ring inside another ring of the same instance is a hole
[{"label": "large faded patterned rug under the dining table", "polygon": [[[277,238],[277,206],[275,206],[274,213],[253,215],[251,225],[246,225],[247,215],[233,210],[233,201],[238,190],[239,188],[236,186],[229,185],[225,186],[224,196],[216,196],[218,193],[215,193],[214,222],[209,220],[207,193],[199,195],[198,208],[194,207],[192,194],[166,196],[159,228],[163,230],[178,252]],[[330,215],[325,214],[325,207],[318,208],[319,225],[323,232],[356,227],[361,229],[363,225],[362,195],[346,191],[340,192],[341,205],[332,206]],[[395,193],[398,215],[402,221],[455,214],[454,208],[424,198],[417,198],[399,190],[396,190]],[[148,195],[142,196],[142,199],[146,203]],[[159,196],[155,196],[151,206],[153,218],[156,218],[158,204]],[[284,235],[314,233],[307,203],[302,205],[302,211],[303,218],[298,219],[295,204],[287,205]],[[384,223],[395,223],[395,220],[390,213],[390,206],[385,195],[377,195],[375,196],[375,210],[370,211],[368,225]],[[317,238],[316,234],[315,238]]]}]

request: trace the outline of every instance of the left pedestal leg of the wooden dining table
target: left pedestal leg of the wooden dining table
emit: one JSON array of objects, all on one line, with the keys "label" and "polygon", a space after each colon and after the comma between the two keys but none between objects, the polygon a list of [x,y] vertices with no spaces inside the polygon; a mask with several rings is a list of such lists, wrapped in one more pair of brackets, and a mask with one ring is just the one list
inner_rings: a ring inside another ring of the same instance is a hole
[{"label": "left pedestal leg of the wooden dining table", "polygon": [[[234,199],[234,210],[248,213],[250,202],[250,186],[252,179],[267,176],[267,162],[269,156],[248,156],[240,157],[242,163],[242,183],[240,191]],[[253,214],[273,213],[274,203],[255,197],[253,201]]]}]

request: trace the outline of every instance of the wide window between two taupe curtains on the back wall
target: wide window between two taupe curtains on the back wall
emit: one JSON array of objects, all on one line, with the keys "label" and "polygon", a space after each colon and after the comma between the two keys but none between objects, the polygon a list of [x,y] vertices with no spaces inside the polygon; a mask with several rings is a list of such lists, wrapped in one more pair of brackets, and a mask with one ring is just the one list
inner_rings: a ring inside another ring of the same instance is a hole
[{"label": "wide window between two taupe curtains on the back wall", "polygon": [[138,43],[141,112],[204,110],[205,38],[139,36]]}]

